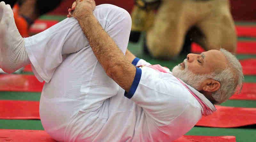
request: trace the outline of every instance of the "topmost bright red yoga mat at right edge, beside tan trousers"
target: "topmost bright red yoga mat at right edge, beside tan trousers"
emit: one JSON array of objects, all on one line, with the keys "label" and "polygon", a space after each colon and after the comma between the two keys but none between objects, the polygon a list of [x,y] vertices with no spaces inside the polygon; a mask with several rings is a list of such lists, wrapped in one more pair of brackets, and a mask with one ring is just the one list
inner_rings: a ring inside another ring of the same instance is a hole
[{"label": "topmost bright red yoga mat at right edge, beside tan trousers", "polygon": [[236,25],[237,36],[256,37],[256,26]]}]

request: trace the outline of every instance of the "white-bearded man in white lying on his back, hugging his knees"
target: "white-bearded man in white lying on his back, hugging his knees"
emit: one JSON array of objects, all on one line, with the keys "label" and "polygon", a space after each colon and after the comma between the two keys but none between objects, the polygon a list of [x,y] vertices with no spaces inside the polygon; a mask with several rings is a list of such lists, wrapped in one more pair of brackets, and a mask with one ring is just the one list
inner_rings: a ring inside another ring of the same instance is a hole
[{"label": "white-bearded man in white lying on his back, hugging his knees", "polygon": [[19,35],[9,5],[0,10],[0,67],[31,63],[46,82],[41,122],[60,142],[172,141],[243,82],[240,63],[222,49],[189,54],[173,72],[136,58],[127,50],[131,17],[114,5],[77,0],[73,18],[29,38]]}]

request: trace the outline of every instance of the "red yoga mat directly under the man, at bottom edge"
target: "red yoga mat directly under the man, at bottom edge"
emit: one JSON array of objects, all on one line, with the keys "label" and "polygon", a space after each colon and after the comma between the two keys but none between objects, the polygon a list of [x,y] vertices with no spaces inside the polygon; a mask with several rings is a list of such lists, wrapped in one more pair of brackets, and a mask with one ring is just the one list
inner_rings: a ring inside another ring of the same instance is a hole
[{"label": "red yoga mat directly under the man, at bottom edge", "polygon": [[[56,142],[42,130],[0,129],[0,142]],[[235,136],[182,136],[173,142],[236,142]]]}]

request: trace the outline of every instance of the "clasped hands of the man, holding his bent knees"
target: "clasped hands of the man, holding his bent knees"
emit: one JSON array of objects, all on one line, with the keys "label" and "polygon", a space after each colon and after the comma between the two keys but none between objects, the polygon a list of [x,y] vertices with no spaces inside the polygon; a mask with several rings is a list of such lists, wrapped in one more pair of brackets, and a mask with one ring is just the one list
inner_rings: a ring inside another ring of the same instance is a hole
[{"label": "clasped hands of the man, holding his bent knees", "polygon": [[96,4],[94,0],[76,0],[72,7],[68,9],[67,17],[74,17],[76,19],[81,19],[92,15]]}]

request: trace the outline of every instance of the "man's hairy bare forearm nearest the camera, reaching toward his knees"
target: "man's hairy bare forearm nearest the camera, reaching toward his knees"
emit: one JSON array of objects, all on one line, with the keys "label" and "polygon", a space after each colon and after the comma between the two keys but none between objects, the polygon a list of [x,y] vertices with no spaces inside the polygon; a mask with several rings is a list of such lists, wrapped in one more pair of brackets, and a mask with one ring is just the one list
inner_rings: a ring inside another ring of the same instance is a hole
[{"label": "man's hairy bare forearm nearest the camera, reaching toward his knees", "polygon": [[94,15],[77,18],[92,51],[108,76],[129,91],[136,73],[135,67],[125,58],[115,41],[100,26]]}]

